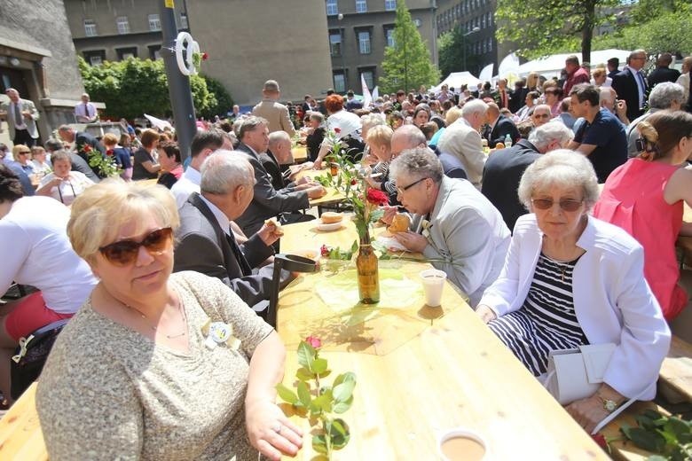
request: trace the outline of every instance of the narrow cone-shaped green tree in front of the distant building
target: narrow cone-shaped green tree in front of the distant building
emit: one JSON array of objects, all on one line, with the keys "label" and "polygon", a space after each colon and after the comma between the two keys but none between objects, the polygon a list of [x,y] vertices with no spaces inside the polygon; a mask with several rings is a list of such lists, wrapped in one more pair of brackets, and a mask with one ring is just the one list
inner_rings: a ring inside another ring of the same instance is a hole
[{"label": "narrow cone-shaped green tree in front of the distant building", "polygon": [[382,93],[408,91],[440,80],[440,73],[430,59],[405,2],[397,2],[394,46],[387,47],[382,61],[383,75],[378,80]]}]

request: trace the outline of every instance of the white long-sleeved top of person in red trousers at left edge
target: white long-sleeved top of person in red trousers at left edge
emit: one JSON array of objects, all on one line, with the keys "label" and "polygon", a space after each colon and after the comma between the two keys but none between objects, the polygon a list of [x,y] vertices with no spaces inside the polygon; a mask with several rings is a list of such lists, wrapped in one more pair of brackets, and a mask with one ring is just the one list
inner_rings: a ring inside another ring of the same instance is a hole
[{"label": "white long-sleeved top of person in red trousers at left edge", "polygon": [[46,306],[73,314],[98,283],[67,238],[69,208],[49,197],[23,197],[0,219],[0,292],[12,281],[41,290]]}]

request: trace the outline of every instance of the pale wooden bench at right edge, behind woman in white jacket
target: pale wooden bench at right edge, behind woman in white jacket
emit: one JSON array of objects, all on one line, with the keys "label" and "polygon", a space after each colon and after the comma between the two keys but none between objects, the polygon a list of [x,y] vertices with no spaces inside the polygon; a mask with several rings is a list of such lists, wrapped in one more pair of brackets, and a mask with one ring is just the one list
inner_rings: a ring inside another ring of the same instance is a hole
[{"label": "pale wooden bench at right edge, behind woman in white jacket", "polygon": [[671,403],[692,402],[692,344],[672,336],[661,366],[658,389]]}]

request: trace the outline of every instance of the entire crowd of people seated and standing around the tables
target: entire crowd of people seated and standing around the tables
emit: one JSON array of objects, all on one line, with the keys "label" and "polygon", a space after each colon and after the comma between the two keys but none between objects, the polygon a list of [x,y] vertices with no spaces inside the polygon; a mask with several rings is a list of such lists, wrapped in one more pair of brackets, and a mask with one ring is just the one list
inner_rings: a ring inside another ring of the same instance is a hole
[{"label": "entire crowd of people seated and standing around the tables", "polygon": [[[294,277],[271,279],[279,223],[314,219],[326,193],[295,175],[326,168],[335,143],[387,192],[385,223],[412,217],[398,243],[444,270],[537,379],[552,350],[616,344],[602,386],[567,407],[581,426],[608,416],[604,402],[652,398],[666,320],[688,301],[674,245],[692,235],[692,61],[675,74],[664,54],[645,79],[646,59],[592,71],[570,57],[560,79],[401,90],[370,107],[352,92],[289,107],[271,80],[252,113],[201,123],[190,146],[165,130],[123,125],[99,141],[63,126],[43,148],[4,152],[0,291],[40,290],[0,312],[4,357],[74,316],[38,387],[51,457],[295,454],[302,433],[274,404],[284,348],[263,316],[273,284]],[[293,145],[307,162],[294,165]],[[120,178],[94,171],[94,154]],[[238,342],[210,343],[209,322]]]}]

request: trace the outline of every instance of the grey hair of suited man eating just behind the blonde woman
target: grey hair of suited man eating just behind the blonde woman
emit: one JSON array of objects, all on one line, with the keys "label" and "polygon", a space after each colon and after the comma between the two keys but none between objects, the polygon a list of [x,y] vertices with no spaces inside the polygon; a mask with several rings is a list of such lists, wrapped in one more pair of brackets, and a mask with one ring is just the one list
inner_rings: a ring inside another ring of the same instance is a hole
[{"label": "grey hair of suited man eating just behind the blonde woman", "polygon": [[249,165],[245,152],[223,149],[213,152],[201,166],[201,191],[224,194],[240,185],[250,185]]}]

